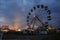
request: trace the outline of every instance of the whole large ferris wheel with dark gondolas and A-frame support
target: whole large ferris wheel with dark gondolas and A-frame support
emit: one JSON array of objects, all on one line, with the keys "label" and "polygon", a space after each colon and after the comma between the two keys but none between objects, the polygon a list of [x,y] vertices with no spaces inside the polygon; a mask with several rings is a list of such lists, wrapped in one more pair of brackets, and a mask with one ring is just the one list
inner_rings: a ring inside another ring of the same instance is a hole
[{"label": "whole large ferris wheel with dark gondolas and A-frame support", "polygon": [[30,9],[27,15],[28,29],[36,29],[37,27],[48,27],[51,20],[51,11],[48,6],[36,5]]}]

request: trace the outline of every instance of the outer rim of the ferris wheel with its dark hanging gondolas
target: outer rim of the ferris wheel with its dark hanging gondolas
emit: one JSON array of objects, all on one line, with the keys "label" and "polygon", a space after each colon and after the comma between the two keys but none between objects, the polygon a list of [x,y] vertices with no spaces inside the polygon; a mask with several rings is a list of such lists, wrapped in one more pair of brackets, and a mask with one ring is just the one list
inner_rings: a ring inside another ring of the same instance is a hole
[{"label": "outer rim of the ferris wheel with its dark hanging gondolas", "polygon": [[[47,13],[48,13],[48,16],[47,16],[47,21],[46,21],[46,26],[48,26],[48,21],[50,21],[51,20],[51,16],[50,16],[50,14],[51,14],[51,11],[48,9],[48,6],[44,6],[44,5],[37,5],[36,7],[34,6],[31,10],[30,10],[30,12],[28,13],[28,16],[27,16],[27,25],[29,25],[29,16],[31,15],[31,13],[32,12],[34,12],[37,8],[42,8],[42,9],[44,9]],[[35,15],[36,16],[36,15]]]}]

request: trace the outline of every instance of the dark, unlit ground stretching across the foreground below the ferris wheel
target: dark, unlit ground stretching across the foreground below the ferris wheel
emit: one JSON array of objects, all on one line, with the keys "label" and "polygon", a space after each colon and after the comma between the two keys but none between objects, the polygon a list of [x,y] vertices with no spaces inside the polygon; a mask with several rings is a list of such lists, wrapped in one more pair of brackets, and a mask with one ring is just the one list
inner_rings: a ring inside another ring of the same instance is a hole
[{"label": "dark, unlit ground stretching across the foreground below the ferris wheel", "polygon": [[60,40],[60,33],[47,35],[23,35],[21,33],[4,33],[2,40]]}]

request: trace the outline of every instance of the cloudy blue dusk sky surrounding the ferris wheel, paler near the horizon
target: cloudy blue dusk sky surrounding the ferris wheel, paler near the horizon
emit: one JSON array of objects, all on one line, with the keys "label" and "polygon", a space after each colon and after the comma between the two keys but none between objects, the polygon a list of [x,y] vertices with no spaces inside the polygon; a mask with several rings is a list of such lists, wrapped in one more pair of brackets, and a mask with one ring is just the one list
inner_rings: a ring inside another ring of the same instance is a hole
[{"label": "cloudy blue dusk sky surrounding the ferris wheel, paler near the horizon", "polygon": [[50,24],[60,27],[60,0],[0,0],[0,25],[14,25],[14,20],[19,19],[20,26],[26,26],[26,16],[37,4],[47,5],[52,13]]}]

